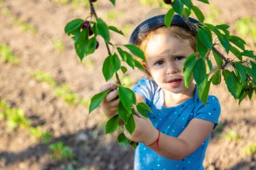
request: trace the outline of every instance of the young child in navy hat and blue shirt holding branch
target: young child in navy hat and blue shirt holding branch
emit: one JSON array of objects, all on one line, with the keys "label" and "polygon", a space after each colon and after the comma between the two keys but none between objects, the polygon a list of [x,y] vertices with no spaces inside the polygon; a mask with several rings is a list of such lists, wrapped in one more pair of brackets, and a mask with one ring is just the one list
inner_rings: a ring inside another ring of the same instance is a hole
[{"label": "young child in navy hat and blue shirt holding branch", "polygon": [[[155,13],[156,14],[156,13]],[[192,23],[197,20],[189,18]],[[164,15],[146,19],[133,31],[130,44],[143,50],[141,62],[150,79],[141,79],[133,91],[137,102],[145,102],[152,113],[149,119],[135,116],[135,131],[130,140],[139,142],[134,169],[203,169],[205,150],[212,130],[218,124],[220,103],[209,95],[207,105],[200,101],[191,79],[184,84],[183,62],[196,50],[196,36],[179,15],[170,28],[164,26]],[[101,87],[110,89],[113,83]],[[102,102],[108,118],[117,114],[118,91],[111,91]]]}]

